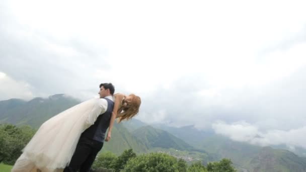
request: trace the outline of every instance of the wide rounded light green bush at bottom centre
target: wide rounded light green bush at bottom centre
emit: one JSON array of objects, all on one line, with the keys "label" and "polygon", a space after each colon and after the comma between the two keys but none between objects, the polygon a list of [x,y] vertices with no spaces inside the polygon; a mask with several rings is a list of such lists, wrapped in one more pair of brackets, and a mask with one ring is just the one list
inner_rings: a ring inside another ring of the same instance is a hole
[{"label": "wide rounded light green bush at bottom centre", "polygon": [[163,172],[178,172],[178,162],[173,156],[166,153],[149,153],[142,154],[135,158],[130,159],[123,172],[153,172],[153,171],[163,171]]}]

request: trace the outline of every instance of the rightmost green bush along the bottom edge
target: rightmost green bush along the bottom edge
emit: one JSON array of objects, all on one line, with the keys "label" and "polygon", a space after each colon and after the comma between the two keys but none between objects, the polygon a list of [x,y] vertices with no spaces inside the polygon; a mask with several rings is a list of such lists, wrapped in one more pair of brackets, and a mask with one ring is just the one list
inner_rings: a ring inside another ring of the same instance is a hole
[{"label": "rightmost green bush along the bottom edge", "polygon": [[232,165],[231,159],[223,158],[219,162],[209,162],[207,164],[207,170],[211,172],[224,171],[224,172],[235,172],[236,169]]}]

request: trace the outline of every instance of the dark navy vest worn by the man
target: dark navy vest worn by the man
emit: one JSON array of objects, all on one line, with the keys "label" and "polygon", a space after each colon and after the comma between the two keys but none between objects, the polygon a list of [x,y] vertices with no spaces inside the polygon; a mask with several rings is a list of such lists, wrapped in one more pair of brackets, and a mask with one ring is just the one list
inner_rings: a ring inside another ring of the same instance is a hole
[{"label": "dark navy vest worn by the man", "polygon": [[107,101],[107,110],[104,114],[99,115],[94,125],[90,126],[81,134],[81,138],[88,138],[99,142],[104,142],[105,133],[107,128],[109,127],[114,108],[113,101],[107,98],[104,99]]}]

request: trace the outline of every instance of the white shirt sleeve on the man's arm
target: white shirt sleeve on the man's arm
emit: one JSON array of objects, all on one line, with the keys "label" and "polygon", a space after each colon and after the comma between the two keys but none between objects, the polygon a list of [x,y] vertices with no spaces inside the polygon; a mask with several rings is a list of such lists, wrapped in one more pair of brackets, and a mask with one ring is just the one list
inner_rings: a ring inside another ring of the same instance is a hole
[{"label": "white shirt sleeve on the man's arm", "polygon": [[86,120],[86,125],[87,127],[93,125],[99,115],[104,114],[107,110],[107,101],[105,99],[97,99],[94,102],[93,108],[90,111],[87,120]]}]

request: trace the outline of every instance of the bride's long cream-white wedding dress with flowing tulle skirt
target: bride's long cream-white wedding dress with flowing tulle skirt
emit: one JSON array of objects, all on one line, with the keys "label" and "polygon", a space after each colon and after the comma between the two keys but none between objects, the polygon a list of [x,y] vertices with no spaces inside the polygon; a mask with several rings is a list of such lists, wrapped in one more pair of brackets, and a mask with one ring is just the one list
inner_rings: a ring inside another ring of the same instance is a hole
[{"label": "bride's long cream-white wedding dress with flowing tulle skirt", "polygon": [[23,149],[12,171],[62,171],[69,164],[82,132],[100,115],[101,100],[90,99],[44,122]]}]

